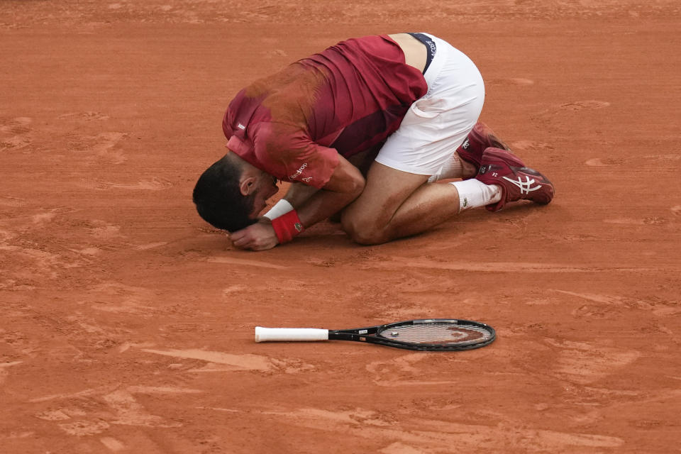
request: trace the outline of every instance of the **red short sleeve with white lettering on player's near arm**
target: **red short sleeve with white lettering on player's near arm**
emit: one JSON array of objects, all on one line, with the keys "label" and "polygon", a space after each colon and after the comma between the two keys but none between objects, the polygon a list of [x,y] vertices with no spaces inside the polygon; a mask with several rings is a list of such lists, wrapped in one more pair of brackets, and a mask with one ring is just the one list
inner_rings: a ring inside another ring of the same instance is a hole
[{"label": "red short sleeve with white lettering on player's near arm", "polygon": [[314,143],[297,126],[263,122],[251,133],[262,170],[283,181],[321,189],[340,161],[335,149]]}]

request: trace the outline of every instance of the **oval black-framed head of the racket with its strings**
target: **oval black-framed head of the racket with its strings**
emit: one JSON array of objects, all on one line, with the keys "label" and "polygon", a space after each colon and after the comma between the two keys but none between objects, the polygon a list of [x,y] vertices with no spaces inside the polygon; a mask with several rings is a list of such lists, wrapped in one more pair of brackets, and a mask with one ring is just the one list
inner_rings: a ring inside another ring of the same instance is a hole
[{"label": "oval black-framed head of the racket with its strings", "polygon": [[494,342],[492,326],[462,319],[421,319],[379,326],[366,341],[426,351],[472,350]]}]

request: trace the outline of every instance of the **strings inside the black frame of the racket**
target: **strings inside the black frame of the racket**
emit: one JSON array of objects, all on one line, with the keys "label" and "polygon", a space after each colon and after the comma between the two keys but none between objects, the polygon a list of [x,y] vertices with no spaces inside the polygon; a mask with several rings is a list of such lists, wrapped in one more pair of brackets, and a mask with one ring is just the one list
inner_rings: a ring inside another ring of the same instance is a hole
[{"label": "strings inside the black frame of the racket", "polygon": [[419,323],[418,325],[392,326],[380,333],[383,338],[409,343],[480,343],[492,338],[485,327],[454,323]]}]

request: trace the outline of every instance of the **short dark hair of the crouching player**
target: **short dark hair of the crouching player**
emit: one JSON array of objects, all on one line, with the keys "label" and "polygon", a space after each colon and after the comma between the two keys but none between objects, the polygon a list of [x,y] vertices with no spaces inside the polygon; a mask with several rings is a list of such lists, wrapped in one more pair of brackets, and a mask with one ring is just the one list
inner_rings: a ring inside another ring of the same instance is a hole
[{"label": "short dark hair of the crouching player", "polygon": [[199,211],[199,216],[204,221],[230,232],[257,221],[248,217],[253,211],[254,194],[241,194],[241,172],[241,166],[227,154],[199,177],[192,199],[196,204],[196,211]]}]

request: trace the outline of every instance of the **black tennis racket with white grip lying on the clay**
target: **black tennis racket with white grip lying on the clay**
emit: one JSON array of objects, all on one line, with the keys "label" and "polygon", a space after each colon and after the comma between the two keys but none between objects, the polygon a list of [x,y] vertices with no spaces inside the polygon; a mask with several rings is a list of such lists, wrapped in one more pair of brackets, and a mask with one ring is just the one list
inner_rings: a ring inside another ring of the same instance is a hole
[{"label": "black tennis racket with white grip lying on the clay", "polygon": [[492,326],[458,319],[408,320],[341,330],[255,327],[255,342],[358,341],[431,351],[471,350],[489,345],[496,337]]}]

